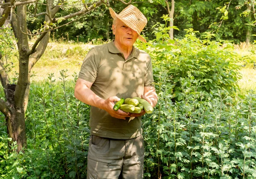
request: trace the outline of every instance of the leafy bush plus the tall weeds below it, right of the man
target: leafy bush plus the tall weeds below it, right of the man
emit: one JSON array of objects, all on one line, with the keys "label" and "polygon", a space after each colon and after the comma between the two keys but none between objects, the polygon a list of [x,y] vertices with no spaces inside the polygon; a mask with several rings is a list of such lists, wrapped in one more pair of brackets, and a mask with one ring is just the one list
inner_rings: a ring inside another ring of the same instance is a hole
[{"label": "leafy bush plus the tall weeds below it, right of the man", "polygon": [[145,178],[255,177],[255,91],[234,96],[233,45],[211,41],[212,33],[199,39],[192,29],[170,40],[166,25],[156,27],[147,49],[159,101],[143,118]]}]

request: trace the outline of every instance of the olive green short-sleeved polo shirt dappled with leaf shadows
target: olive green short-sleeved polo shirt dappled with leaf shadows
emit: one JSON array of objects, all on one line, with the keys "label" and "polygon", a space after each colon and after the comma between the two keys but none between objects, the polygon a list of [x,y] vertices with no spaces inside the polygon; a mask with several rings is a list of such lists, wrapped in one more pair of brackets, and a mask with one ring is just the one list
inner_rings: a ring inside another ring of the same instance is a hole
[{"label": "olive green short-sleeved polo shirt dappled with leaf shadows", "polygon": [[[111,96],[133,98],[143,95],[144,87],[153,86],[153,73],[150,56],[133,47],[125,60],[113,40],[95,46],[86,55],[79,77],[93,83],[90,88],[102,99]],[[85,94],[86,95],[86,94]],[[113,118],[105,110],[90,109],[90,134],[112,139],[131,139],[142,134],[141,117],[126,120]]]}]

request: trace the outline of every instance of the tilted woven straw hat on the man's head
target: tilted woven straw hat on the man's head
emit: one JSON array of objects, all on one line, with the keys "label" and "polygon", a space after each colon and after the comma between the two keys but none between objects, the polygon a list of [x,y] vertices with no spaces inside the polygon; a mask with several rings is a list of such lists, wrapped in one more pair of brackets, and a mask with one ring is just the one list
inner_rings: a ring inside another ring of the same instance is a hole
[{"label": "tilted woven straw hat on the man's head", "polygon": [[144,29],[148,20],[137,7],[129,5],[119,14],[116,14],[112,8],[109,8],[109,12],[113,19],[117,17],[119,20],[122,20],[122,22],[125,23],[128,27],[137,32],[138,39],[143,42],[147,42],[145,38],[140,36],[140,32]]}]

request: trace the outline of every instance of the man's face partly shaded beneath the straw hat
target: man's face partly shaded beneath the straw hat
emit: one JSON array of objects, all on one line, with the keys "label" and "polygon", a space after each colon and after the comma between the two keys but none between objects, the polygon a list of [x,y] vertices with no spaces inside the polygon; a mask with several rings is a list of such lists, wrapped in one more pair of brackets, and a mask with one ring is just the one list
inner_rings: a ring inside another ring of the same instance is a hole
[{"label": "man's face partly shaded beneath the straw hat", "polygon": [[115,25],[112,25],[113,34],[115,35],[115,43],[120,48],[133,46],[138,34],[133,29],[125,25],[121,20],[117,19]]}]

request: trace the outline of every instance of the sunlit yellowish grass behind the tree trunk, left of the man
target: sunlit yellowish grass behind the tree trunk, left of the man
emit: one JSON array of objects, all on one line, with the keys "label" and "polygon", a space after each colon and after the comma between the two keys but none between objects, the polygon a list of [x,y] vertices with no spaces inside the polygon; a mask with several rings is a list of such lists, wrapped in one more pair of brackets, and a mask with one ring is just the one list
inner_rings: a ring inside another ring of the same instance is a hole
[{"label": "sunlit yellowish grass behind the tree trunk, left of the man", "polygon": [[[56,79],[60,77],[60,71],[67,69],[68,79],[73,78],[72,75],[79,73],[81,64],[87,52],[94,45],[84,43],[48,43],[47,49],[41,59],[32,68],[32,82],[42,81],[48,77],[48,74],[54,73]],[[14,69],[12,76],[18,72],[17,52],[12,56]]]}]

